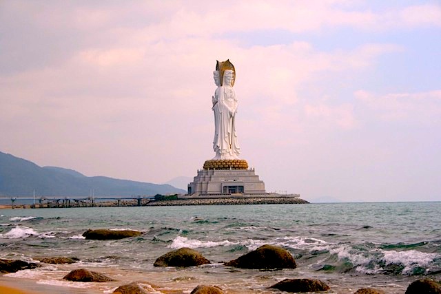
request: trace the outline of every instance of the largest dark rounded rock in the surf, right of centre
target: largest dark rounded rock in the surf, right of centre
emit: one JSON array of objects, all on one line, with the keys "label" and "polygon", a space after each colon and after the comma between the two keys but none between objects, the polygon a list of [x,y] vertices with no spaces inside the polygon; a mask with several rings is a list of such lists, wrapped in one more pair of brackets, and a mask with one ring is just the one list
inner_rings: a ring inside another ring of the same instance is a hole
[{"label": "largest dark rounded rock in the surf, right of centre", "polygon": [[278,246],[263,245],[258,249],[225,263],[242,269],[296,269],[291,253]]}]

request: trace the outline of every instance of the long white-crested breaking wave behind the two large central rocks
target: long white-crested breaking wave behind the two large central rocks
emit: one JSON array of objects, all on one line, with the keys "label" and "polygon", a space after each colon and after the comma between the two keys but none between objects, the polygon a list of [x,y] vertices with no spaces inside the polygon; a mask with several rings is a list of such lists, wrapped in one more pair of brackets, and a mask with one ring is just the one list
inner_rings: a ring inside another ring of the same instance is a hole
[{"label": "long white-crested breaking wave behind the two large central rocks", "polygon": [[[182,247],[212,248],[231,246],[230,251],[252,251],[264,244],[282,246],[291,251],[295,258],[311,262],[311,268],[340,273],[355,272],[387,275],[427,275],[441,270],[440,253],[424,253],[417,250],[394,251],[381,249],[380,244],[329,243],[316,238],[288,237],[274,240],[210,241],[177,236],[168,246],[171,249]],[[246,250],[245,249],[245,250]],[[317,258],[317,257],[320,258]],[[316,258],[316,260],[314,260]],[[302,262],[301,261],[301,262]]]}]

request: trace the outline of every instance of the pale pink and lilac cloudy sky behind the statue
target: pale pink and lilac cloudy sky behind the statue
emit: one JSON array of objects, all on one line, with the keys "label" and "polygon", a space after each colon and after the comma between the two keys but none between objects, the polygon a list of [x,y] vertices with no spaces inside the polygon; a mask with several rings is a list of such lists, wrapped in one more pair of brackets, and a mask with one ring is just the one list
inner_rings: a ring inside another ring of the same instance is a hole
[{"label": "pale pink and lilac cloudy sky behind the statue", "polygon": [[0,0],[0,151],[196,176],[226,59],[240,158],[267,191],[441,200],[441,1]]}]

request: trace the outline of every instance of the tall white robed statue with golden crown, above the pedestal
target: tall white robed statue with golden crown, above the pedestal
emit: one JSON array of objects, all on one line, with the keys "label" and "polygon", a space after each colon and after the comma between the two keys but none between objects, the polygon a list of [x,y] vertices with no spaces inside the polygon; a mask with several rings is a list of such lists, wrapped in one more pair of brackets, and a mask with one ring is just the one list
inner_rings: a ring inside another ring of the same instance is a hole
[{"label": "tall white robed statue with golden crown, above the pedestal", "polygon": [[[229,61],[225,61],[226,63]],[[214,83],[218,86],[212,97],[214,112],[214,140],[213,149],[216,159],[239,159],[240,147],[236,134],[237,98],[234,92],[234,67],[232,70],[216,67],[213,72]],[[222,81],[222,82],[221,82]]]}]

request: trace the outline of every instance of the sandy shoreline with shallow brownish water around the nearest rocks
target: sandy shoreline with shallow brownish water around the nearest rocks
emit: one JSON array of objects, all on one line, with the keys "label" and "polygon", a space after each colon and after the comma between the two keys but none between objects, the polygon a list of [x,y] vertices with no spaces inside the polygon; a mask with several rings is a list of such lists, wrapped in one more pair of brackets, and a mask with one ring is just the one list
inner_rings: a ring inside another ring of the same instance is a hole
[{"label": "sandy shoreline with shallow brownish water around the nearest rocks", "polygon": [[[213,266],[213,265],[211,265]],[[112,267],[81,266],[90,271],[98,271],[110,277],[116,277],[112,282],[67,282],[62,280],[66,272],[78,268],[75,264],[59,264],[58,270],[52,271],[49,275],[39,275],[34,277],[14,277],[0,274],[0,293],[5,294],[99,294],[112,293],[117,287],[140,282],[150,285],[152,293],[163,294],[183,294],[190,293],[198,284],[209,284],[220,286],[225,294],[275,294],[280,293],[269,286],[285,278],[307,278],[318,279],[331,287],[330,293],[353,294],[360,288],[373,287],[385,293],[404,293],[406,288],[418,277],[397,277],[391,284],[375,275],[353,276],[353,275],[327,275],[325,273],[311,273],[304,269],[297,268],[290,270],[260,271],[236,269],[240,275],[245,273],[245,277],[235,277],[227,267],[223,272],[207,273],[211,266],[196,266],[196,268],[174,269],[167,268],[161,271],[139,271],[137,269],[119,269]],[[25,270],[27,271],[27,270]],[[32,269],[30,271],[35,271]],[[275,274],[275,275],[274,275]],[[252,280],[245,282],[244,278]],[[287,293],[287,292],[284,292]]]}]

